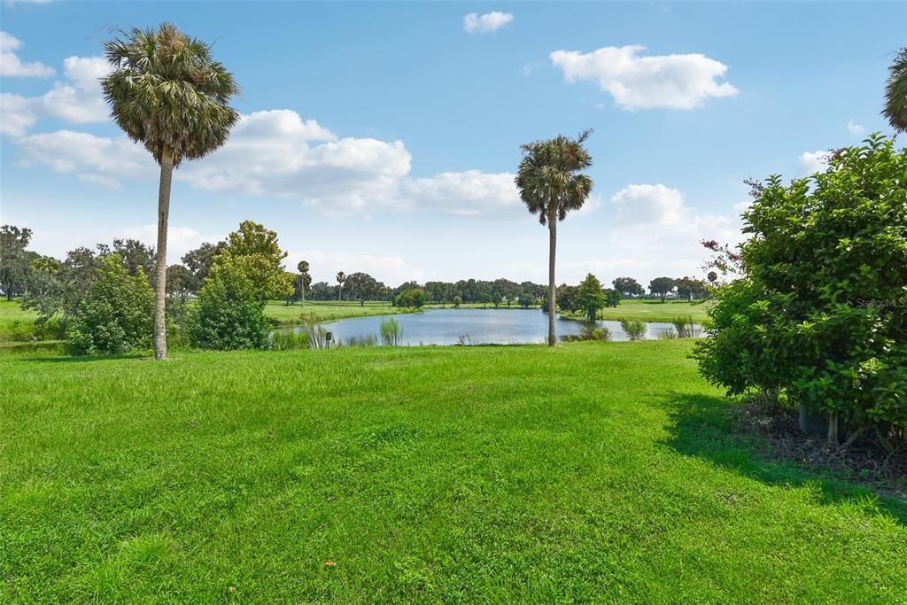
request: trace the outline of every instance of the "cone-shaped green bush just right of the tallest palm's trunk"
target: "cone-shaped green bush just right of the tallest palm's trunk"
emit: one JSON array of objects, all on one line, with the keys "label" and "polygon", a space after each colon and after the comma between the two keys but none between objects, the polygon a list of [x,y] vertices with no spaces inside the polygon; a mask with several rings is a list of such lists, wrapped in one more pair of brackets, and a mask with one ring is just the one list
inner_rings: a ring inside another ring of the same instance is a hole
[{"label": "cone-shaped green bush just right of the tallest palm's trunk", "polygon": [[249,276],[249,257],[224,255],[210,269],[188,318],[188,336],[200,348],[265,346],[268,317],[259,283]]}]

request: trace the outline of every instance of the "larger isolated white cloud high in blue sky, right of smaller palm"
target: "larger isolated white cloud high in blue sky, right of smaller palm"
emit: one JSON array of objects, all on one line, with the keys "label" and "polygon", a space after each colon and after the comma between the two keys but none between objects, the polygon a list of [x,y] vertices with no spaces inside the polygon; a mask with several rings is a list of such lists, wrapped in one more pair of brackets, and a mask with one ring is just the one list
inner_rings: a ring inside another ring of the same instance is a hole
[{"label": "larger isolated white cloud high in blue sky, right of smaller palm", "polygon": [[731,97],[727,65],[704,54],[639,56],[645,46],[606,46],[591,53],[555,51],[551,63],[567,82],[592,80],[621,109],[694,109],[708,97]]}]

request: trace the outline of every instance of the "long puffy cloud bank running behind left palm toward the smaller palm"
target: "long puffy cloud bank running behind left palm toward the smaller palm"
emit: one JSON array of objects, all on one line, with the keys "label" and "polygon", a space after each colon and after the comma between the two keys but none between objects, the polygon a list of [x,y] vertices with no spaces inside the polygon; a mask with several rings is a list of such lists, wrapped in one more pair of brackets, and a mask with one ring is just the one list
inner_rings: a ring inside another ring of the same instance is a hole
[{"label": "long puffy cloud bank running behind left palm toward the smaller palm", "polygon": [[[148,151],[125,136],[64,130],[23,136],[17,143],[25,161],[75,172],[82,181],[104,187],[157,174]],[[275,110],[242,116],[222,148],[184,163],[174,178],[199,190],[299,200],[328,216],[430,210],[523,218],[509,172],[414,178],[411,164],[403,141],[340,139],[315,120]]]}]

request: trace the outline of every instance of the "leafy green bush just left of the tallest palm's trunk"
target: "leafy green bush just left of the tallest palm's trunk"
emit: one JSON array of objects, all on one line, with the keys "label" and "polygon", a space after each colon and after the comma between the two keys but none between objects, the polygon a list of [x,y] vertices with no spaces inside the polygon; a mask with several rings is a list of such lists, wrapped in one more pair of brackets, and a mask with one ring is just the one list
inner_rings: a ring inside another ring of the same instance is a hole
[{"label": "leafy green bush just left of the tallest palm's trunk", "polygon": [[72,355],[119,354],[151,347],[154,292],[144,270],[130,275],[115,254],[101,259],[87,296],[66,327]]}]

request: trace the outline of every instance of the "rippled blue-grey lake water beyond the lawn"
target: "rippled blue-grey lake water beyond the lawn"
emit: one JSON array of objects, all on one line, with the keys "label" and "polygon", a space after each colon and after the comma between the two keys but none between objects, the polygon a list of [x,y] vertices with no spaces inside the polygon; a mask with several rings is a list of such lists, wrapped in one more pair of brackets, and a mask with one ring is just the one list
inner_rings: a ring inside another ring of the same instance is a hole
[{"label": "rippled blue-grey lake water beyond the lawn", "polygon": [[[357,339],[374,335],[380,342],[381,322],[383,317],[356,317],[341,319],[322,324],[335,340],[346,341],[350,337]],[[397,323],[403,327],[405,345],[456,345],[460,337],[468,338],[473,345],[514,345],[526,343],[543,343],[548,335],[548,314],[539,309],[429,309],[423,313],[395,315]],[[620,323],[617,321],[597,321],[596,326],[607,327],[611,340],[629,340]],[[585,322],[572,319],[557,319],[558,337],[580,334]],[[646,324],[646,338],[658,338],[664,330],[673,330],[667,323],[649,322]],[[305,330],[305,327],[287,328],[294,331]],[[699,327],[697,327],[697,330]]]}]

